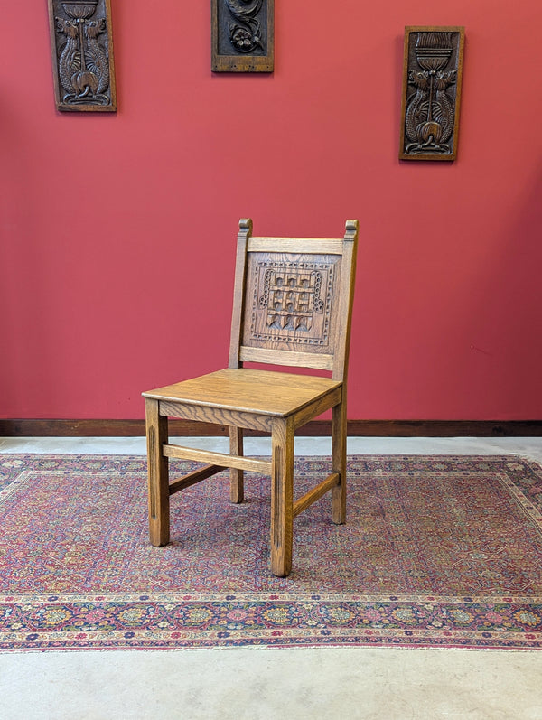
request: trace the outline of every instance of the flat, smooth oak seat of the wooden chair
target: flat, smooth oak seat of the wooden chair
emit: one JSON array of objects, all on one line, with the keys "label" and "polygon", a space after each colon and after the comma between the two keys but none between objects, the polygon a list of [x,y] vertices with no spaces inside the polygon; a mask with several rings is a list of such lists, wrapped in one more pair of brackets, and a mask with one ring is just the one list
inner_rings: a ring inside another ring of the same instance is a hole
[{"label": "flat, smooth oak seat of the wooden chair", "polygon": [[143,393],[154,400],[286,417],[341,387],[340,380],[227,368]]}]

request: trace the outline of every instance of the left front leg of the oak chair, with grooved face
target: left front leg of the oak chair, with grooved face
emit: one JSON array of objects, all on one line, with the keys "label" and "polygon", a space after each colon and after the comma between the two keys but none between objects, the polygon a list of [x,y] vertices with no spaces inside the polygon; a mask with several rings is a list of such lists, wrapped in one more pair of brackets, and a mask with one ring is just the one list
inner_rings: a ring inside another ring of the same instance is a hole
[{"label": "left front leg of the oak chair, with grooved face", "polygon": [[151,545],[169,543],[169,468],[162,446],[168,440],[167,417],[159,413],[158,400],[145,397],[147,465],[149,481],[149,535]]}]

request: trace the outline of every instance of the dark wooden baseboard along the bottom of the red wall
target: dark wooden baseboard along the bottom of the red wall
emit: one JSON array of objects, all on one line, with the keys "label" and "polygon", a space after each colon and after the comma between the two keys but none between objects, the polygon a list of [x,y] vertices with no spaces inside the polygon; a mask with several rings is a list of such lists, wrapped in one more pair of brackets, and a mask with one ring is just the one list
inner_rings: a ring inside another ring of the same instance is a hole
[{"label": "dark wooden baseboard along the bottom of the red wall", "polygon": [[[298,435],[331,435],[330,420],[314,420]],[[352,437],[542,437],[542,420],[349,420]],[[133,437],[145,420],[2,420],[2,437]],[[170,420],[170,435],[228,435],[225,425]],[[247,431],[247,435],[262,435]]]}]

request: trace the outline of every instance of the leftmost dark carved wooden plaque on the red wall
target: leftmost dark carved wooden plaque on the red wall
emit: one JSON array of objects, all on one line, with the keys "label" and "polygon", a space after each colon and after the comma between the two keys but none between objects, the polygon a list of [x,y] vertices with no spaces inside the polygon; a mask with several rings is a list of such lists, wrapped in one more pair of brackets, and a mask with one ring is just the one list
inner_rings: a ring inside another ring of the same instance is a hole
[{"label": "leftmost dark carved wooden plaque on the red wall", "polygon": [[115,112],[109,0],[49,0],[57,109]]}]

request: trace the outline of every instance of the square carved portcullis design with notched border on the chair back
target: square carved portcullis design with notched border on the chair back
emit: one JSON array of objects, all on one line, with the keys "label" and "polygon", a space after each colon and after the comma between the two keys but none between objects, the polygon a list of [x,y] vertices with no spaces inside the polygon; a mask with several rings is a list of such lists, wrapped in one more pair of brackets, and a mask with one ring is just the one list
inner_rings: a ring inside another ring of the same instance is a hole
[{"label": "square carved portcullis design with notched border on the chair back", "polygon": [[251,336],[262,341],[327,345],[333,272],[333,265],[326,263],[258,263]]}]

